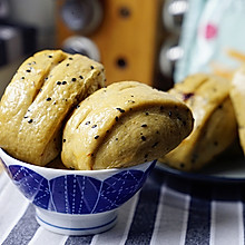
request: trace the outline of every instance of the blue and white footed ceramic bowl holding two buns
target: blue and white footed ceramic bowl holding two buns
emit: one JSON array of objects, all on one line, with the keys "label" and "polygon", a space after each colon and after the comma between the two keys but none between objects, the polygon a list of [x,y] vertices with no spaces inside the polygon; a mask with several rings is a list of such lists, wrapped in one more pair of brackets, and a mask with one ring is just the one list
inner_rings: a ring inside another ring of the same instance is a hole
[{"label": "blue and white footed ceramic bowl holding two buns", "polygon": [[45,228],[66,235],[89,235],[111,228],[117,209],[144,185],[156,161],[102,170],[55,169],[30,165],[0,148],[11,180],[36,206]]}]

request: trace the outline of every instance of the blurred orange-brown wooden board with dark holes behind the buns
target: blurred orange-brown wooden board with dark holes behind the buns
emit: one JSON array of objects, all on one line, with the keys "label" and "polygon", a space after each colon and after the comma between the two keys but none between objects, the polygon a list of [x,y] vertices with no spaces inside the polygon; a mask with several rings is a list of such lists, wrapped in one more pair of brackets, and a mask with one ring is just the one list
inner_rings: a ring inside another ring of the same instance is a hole
[{"label": "blurred orange-brown wooden board with dark holes behind the buns", "polygon": [[[164,0],[100,0],[104,9],[101,24],[91,35],[106,68],[107,84],[119,80],[138,80],[159,87],[158,52],[165,38],[161,23]],[[63,40],[77,36],[63,23],[57,1],[57,47]],[[169,87],[161,80],[160,89]]]}]

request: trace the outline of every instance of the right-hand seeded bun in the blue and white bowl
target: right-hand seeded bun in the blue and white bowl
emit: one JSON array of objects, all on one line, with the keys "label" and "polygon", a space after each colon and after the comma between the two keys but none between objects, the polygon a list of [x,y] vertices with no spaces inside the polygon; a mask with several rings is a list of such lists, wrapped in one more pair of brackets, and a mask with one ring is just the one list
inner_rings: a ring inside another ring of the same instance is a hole
[{"label": "right-hand seeded bun in the blue and white bowl", "polygon": [[189,108],[137,81],[115,82],[79,104],[63,129],[69,168],[128,167],[175,148],[193,128]]}]

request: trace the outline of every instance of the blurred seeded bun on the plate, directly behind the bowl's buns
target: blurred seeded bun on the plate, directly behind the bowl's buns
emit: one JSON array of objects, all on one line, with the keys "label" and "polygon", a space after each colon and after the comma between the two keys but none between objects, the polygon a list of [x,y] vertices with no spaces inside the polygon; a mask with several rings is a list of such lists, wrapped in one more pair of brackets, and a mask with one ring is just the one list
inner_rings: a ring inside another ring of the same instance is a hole
[{"label": "blurred seeded bun on the plate, directly behind the bowl's buns", "polygon": [[237,124],[229,90],[229,80],[205,74],[192,75],[169,90],[189,106],[195,122],[192,134],[160,163],[180,170],[199,170],[235,141]]}]

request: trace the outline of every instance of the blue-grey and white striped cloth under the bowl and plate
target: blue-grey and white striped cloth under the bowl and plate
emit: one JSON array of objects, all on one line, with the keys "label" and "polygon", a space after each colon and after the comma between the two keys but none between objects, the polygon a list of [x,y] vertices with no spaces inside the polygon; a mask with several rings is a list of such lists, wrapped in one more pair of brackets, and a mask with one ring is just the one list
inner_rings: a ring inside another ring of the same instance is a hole
[{"label": "blue-grey and white striped cloth under the bowl and plate", "polygon": [[112,229],[79,237],[58,235],[40,227],[33,206],[3,173],[0,175],[0,244],[244,244],[242,200],[198,198],[170,188],[168,180],[169,176],[155,169],[141,192],[119,209]]}]

